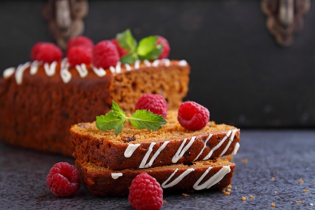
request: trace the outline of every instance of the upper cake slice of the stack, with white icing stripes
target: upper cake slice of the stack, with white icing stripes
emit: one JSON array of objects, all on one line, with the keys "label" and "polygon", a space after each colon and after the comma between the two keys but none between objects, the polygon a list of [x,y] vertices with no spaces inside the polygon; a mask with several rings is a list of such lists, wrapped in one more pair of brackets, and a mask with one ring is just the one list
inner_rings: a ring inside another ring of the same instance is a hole
[{"label": "upper cake slice of the stack, with white icing stripes", "polygon": [[177,111],[170,110],[167,123],[156,131],[137,129],[126,123],[121,133],[102,131],[95,122],[70,128],[74,158],[111,170],[148,168],[237,154],[240,129],[209,122],[200,130],[183,128]]}]

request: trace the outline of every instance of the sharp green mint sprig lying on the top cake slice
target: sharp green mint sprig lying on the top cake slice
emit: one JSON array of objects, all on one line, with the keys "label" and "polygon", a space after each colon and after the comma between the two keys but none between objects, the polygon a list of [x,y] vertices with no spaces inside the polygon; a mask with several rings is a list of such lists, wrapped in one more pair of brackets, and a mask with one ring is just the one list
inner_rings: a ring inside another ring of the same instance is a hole
[{"label": "sharp green mint sprig lying on the top cake slice", "polygon": [[96,117],[96,126],[100,130],[115,129],[115,134],[118,135],[124,127],[124,123],[129,120],[131,125],[147,130],[160,129],[167,121],[162,115],[154,114],[146,110],[136,110],[130,117],[122,111],[117,103],[113,101],[112,109],[106,115]]}]

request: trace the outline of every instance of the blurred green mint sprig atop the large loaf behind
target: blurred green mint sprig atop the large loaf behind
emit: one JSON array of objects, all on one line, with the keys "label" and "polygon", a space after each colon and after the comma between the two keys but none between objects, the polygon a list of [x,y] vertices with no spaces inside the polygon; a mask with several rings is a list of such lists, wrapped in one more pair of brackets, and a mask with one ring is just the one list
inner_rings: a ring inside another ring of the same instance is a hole
[{"label": "blurred green mint sprig atop the large loaf behind", "polygon": [[163,50],[163,45],[157,44],[157,39],[159,39],[157,36],[144,37],[139,41],[139,44],[137,44],[130,30],[127,29],[117,34],[116,38],[119,45],[129,51],[127,55],[120,58],[120,62],[122,63],[130,64],[137,59],[155,60],[161,55]]}]

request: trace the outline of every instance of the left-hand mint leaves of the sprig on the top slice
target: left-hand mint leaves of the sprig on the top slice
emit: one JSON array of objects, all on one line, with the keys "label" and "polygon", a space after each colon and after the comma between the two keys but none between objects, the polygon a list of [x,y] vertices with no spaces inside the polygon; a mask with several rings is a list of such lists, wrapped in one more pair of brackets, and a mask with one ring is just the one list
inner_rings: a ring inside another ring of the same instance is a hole
[{"label": "left-hand mint leaves of the sprig on the top slice", "polygon": [[127,117],[125,112],[114,101],[112,109],[106,115],[96,117],[96,126],[100,130],[115,129],[115,134],[118,135],[124,127]]}]

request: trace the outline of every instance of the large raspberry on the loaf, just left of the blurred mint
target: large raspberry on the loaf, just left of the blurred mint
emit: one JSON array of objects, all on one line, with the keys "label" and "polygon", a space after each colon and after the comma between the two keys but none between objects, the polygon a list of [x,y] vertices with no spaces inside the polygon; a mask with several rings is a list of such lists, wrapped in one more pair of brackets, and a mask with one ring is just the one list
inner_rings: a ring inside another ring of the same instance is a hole
[{"label": "large raspberry on the loaf, just left of the blurred mint", "polygon": [[92,63],[95,67],[109,68],[120,59],[116,46],[109,40],[97,43],[93,48]]}]

